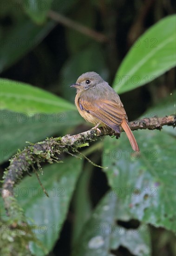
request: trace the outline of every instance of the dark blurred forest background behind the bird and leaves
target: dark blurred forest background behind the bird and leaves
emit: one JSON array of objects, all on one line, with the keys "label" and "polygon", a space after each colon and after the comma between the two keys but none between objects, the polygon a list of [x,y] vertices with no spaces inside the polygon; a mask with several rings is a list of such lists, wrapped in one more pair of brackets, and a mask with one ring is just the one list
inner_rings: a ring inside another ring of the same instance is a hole
[{"label": "dark blurred forest background behind the bird and leaves", "polygon": [[[29,8],[32,1],[1,1],[0,75],[43,88],[73,104],[76,92],[70,85],[79,75],[95,71],[112,85],[118,67],[135,40],[157,21],[175,13],[176,9],[175,0],[36,2],[40,10],[43,10],[42,14],[35,7]],[[121,94],[129,121],[139,118],[146,109],[173,91],[175,73],[172,68],[151,83]],[[82,121],[70,127],[69,133],[76,134],[88,128],[90,126]],[[40,139],[45,139],[47,135],[64,134],[65,131],[59,132],[55,128]],[[30,137],[26,141],[38,140]],[[4,162],[1,169],[7,165]],[[89,189],[94,207],[109,187],[100,168],[92,168],[90,180]],[[70,253],[72,219],[71,204],[61,239],[50,255]],[[136,227],[138,223],[133,221],[124,224],[125,227],[130,225]],[[172,255],[172,234],[164,229],[157,229],[153,234],[153,255]],[[131,254],[120,247],[117,255]]]}]

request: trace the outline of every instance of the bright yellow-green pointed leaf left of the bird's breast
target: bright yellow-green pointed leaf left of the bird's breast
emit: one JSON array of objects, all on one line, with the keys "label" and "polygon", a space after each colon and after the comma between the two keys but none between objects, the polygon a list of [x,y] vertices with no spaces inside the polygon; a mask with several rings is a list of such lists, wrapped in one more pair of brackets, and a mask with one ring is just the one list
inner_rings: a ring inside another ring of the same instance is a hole
[{"label": "bright yellow-green pointed leaf left of the bird's breast", "polygon": [[36,112],[59,113],[75,109],[71,103],[59,96],[19,81],[0,79],[0,92],[1,110],[8,109],[33,115]]}]

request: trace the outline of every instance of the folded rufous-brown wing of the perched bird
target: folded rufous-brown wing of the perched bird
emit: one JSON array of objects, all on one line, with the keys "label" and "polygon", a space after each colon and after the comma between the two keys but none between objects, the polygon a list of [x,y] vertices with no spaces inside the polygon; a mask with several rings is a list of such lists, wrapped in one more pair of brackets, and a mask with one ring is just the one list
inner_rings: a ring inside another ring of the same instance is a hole
[{"label": "folded rufous-brown wing of the perched bird", "polygon": [[125,118],[125,120],[127,120],[123,105],[118,104],[116,101],[105,99],[88,101],[80,97],[79,106],[82,110],[94,115],[117,132],[119,132],[119,125],[122,123],[123,119]]}]

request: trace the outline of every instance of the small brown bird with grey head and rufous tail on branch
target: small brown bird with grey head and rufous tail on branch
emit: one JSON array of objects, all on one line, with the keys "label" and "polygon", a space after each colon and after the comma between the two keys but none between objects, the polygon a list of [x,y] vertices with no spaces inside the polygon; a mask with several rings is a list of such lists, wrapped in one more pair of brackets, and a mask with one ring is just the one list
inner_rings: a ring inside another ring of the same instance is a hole
[{"label": "small brown bird with grey head and rufous tail on branch", "polygon": [[109,126],[117,133],[120,133],[120,125],[133,150],[139,152],[136,139],[128,126],[128,117],[120,97],[99,74],[95,72],[82,74],[78,77],[76,84],[72,84],[71,87],[77,89],[75,105],[86,121],[93,123],[95,129],[99,125]]}]

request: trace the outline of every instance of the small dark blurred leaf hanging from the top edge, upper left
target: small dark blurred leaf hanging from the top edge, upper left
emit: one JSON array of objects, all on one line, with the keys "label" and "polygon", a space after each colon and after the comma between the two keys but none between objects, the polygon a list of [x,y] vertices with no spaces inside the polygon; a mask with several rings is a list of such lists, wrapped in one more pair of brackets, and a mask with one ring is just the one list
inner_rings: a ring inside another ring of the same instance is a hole
[{"label": "small dark blurred leaf hanging from the top edge, upper left", "polygon": [[[24,4],[24,1],[22,2]],[[41,25],[46,21],[47,13],[49,12],[51,5],[52,0],[26,0],[26,8],[24,8],[24,10],[35,23]]]}]

